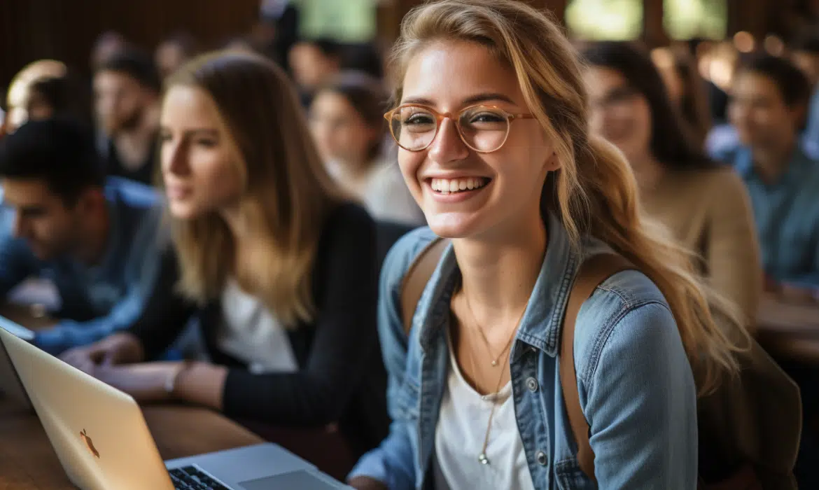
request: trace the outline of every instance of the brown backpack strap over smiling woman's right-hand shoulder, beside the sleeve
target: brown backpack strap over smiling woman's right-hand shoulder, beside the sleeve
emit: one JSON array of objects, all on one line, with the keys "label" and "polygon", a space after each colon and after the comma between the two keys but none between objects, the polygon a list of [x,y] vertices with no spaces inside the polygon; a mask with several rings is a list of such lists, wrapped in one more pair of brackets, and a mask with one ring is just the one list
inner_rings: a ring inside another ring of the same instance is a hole
[{"label": "brown backpack strap over smiling woman's right-hand shoulder, beside the sleeve", "polygon": [[563,316],[563,333],[560,338],[560,388],[563,390],[563,401],[566,413],[572,426],[574,440],[577,442],[577,463],[580,469],[595,483],[595,453],[589,443],[589,423],[580,406],[580,393],[577,392],[577,373],[574,369],[574,327],[577,313],[583,302],[595,292],[606,279],[622,270],[634,269],[631,262],[622,256],[605,253],[590,256],[584,261],[568,295],[566,313]]}]

